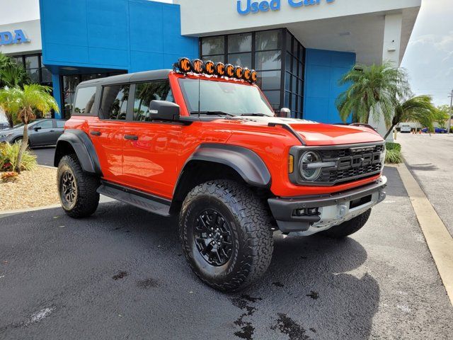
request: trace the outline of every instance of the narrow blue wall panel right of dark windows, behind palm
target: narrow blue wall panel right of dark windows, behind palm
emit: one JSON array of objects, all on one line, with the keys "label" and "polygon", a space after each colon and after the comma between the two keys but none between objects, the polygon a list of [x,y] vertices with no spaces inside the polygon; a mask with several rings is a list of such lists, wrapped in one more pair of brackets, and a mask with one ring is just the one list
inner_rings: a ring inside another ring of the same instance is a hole
[{"label": "narrow blue wall panel right of dark windows, behind palm", "polygon": [[355,64],[355,53],[306,50],[304,118],[321,123],[340,123],[336,98],[348,89],[338,81]]}]

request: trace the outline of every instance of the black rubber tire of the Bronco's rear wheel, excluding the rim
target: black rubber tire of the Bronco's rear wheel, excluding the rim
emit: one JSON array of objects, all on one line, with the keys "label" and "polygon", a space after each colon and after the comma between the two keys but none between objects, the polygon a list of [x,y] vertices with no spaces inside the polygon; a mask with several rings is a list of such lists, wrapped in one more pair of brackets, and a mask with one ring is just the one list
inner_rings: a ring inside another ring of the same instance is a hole
[{"label": "black rubber tire of the Bronco's rear wheel, excluding the rim", "polygon": [[[65,171],[69,171],[76,182],[76,198],[71,205],[62,197],[62,177]],[[99,184],[98,177],[83,171],[75,154],[64,156],[59,161],[57,171],[58,196],[67,215],[74,218],[93,215],[99,204],[99,194],[96,191]]]}]

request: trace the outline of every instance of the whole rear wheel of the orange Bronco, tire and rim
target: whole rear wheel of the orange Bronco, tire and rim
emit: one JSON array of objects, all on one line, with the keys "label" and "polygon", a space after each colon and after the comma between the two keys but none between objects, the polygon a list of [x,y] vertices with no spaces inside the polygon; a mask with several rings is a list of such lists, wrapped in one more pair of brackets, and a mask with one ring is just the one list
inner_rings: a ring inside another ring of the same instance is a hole
[{"label": "whole rear wheel of the orange Bronco, tire and rim", "polygon": [[58,164],[59,200],[67,215],[74,218],[92,215],[98,208],[99,179],[81,168],[75,154],[62,157]]}]

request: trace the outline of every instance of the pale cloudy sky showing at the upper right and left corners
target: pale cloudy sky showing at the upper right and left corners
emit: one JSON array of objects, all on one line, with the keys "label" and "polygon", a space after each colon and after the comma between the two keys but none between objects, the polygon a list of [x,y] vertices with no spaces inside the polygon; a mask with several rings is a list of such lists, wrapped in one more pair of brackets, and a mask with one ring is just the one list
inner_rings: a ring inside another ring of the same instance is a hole
[{"label": "pale cloudy sky showing at the upper right and left corners", "polygon": [[[39,18],[38,0],[0,1],[3,8],[14,8],[18,3],[27,8],[0,11],[0,25]],[[452,0],[423,0],[401,67],[407,69],[415,94],[432,95],[436,105],[449,104],[453,90]]]}]

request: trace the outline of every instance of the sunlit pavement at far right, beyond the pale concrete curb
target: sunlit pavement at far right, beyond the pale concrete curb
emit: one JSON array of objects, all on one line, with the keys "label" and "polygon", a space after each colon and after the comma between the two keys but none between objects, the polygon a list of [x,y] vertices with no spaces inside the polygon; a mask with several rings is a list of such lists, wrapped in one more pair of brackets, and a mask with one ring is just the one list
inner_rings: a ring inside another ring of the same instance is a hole
[{"label": "sunlit pavement at far right, beyond the pale concrete curb", "polygon": [[404,159],[453,236],[453,135],[398,134]]}]

